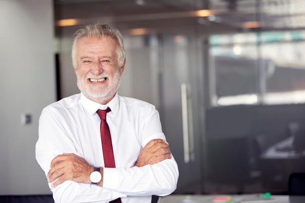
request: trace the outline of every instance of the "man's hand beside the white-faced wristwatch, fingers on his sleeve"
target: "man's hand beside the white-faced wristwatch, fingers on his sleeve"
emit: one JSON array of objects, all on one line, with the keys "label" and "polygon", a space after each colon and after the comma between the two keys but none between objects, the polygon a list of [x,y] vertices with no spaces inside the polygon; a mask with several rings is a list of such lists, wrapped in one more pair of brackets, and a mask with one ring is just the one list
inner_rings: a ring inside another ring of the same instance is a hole
[{"label": "man's hand beside the white-faced wristwatch, fingers on his sleeve", "polygon": [[90,166],[84,158],[76,154],[63,153],[58,155],[52,160],[50,167],[51,169],[47,174],[48,182],[52,183],[58,178],[51,185],[52,187],[56,187],[67,180],[77,183],[91,183],[89,175],[93,171],[93,166]]}]

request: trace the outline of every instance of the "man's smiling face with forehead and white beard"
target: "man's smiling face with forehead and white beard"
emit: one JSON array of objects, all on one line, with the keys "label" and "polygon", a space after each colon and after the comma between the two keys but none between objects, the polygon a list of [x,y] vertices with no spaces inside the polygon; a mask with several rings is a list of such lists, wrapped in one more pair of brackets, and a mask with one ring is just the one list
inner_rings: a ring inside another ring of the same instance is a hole
[{"label": "man's smiling face with forehead and white beard", "polygon": [[77,43],[77,86],[94,102],[107,104],[119,88],[125,62],[118,67],[116,47],[116,41],[107,36],[83,37]]}]

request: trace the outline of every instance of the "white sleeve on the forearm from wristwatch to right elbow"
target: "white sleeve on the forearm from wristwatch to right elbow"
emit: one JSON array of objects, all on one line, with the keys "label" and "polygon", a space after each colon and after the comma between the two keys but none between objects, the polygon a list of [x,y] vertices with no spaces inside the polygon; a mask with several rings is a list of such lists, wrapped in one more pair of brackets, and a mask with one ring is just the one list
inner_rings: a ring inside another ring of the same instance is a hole
[{"label": "white sleeve on the forearm from wristwatch to right elbow", "polygon": [[127,196],[166,196],[176,189],[177,180],[178,167],[172,158],[142,167],[104,168],[103,187]]}]

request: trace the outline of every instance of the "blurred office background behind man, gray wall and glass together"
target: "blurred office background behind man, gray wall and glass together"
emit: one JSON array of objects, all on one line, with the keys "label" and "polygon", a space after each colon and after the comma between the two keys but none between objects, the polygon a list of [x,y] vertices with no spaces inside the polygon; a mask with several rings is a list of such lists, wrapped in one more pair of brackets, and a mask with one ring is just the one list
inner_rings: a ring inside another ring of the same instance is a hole
[{"label": "blurred office background behind man, gray wall and glass together", "polygon": [[79,92],[72,35],[95,22],[122,31],[119,93],[160,112],[176,194],[286,194],[305,171],[304,0],[0,0],[0,195],[50,193],[38,118]]}]

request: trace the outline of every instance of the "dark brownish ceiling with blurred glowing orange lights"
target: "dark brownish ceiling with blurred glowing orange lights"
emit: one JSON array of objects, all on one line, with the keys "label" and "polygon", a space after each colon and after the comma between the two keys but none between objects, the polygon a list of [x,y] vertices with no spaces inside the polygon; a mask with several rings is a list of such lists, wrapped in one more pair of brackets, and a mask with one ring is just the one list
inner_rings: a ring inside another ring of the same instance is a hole
[{"label": "dark brownish ceiling with blurred glowing orange lights", "polygon": [[304,29],[305,0],[55,0],[55,19],[154,33]]}]

